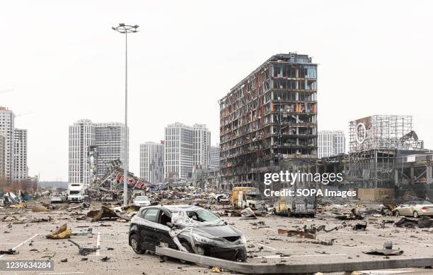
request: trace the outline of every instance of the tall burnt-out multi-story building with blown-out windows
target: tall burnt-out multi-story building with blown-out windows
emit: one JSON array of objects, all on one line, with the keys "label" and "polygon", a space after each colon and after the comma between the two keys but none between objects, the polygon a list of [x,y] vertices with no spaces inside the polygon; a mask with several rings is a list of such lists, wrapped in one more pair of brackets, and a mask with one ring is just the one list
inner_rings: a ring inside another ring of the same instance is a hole
[{"label": "tall burnt-out multi-story building with blown-out windows", "polygon": [[308,55],[276,54],[219,101],[223,187],[317,158],[316,69]]}]

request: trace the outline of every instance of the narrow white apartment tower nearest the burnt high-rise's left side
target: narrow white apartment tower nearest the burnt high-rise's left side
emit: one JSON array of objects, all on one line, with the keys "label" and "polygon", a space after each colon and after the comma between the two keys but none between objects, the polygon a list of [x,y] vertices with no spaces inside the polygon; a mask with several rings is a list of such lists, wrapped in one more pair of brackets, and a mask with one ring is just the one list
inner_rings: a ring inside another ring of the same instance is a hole
[{"label": "narrow white apartment tower nearest the burnt high-rise's left side", "polygon": [[211,133],[204,124],[194,124],[194,165],[210,166]]}]

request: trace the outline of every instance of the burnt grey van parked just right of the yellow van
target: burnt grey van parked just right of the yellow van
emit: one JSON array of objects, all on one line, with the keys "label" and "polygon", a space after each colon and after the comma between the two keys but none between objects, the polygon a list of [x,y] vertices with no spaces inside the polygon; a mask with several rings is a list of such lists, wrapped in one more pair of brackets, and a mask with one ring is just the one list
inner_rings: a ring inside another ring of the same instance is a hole
[{"label": "burnt grey van parked just right of the yellow van", "polygon": [[[294,190],[296,194],[296,187],[284,188],[281,191],[289,194],[289,189]],[[284,216],[306,215],[315,216],[317,209],[316,195],[309,196],[279,196],[275,203],[275,214]]]}]

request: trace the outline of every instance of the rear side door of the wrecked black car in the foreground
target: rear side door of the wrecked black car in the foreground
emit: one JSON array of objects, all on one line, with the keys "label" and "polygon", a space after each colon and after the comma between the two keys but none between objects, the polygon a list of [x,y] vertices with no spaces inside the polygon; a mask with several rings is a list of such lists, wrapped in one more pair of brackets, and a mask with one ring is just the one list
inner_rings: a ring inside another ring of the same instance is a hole
[{"label": "rear side door of the wrecked black car in the foreground", "polygon": [[149,208],[146,209],[146,212],[143,214],[143,223],[142,230],[140,232],[140,236],[143,240],[143,247],[145,250],[155,251],[155,247],[159,244],[157,231],[158,227],[158,208]]}]

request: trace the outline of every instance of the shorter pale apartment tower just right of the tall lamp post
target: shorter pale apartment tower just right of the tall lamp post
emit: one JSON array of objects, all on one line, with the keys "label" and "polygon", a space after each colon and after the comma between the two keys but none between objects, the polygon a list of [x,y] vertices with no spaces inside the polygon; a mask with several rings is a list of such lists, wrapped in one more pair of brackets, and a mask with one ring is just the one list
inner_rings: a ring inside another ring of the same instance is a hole
[{"label": "shorter pale apartment tower just right of the tall lamp post", "polygon": [[151,184],[163,183],[163,142],[145,142],[140,145],[140,178]]}]

